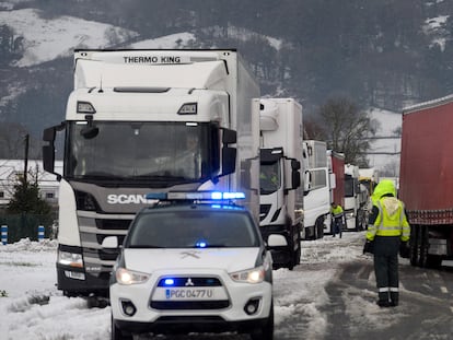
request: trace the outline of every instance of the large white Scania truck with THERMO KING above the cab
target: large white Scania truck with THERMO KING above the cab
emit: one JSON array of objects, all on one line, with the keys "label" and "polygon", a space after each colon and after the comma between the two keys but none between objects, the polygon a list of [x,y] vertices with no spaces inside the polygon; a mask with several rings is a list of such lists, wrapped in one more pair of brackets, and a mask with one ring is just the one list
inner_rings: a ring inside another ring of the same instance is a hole
[{"label": "large white Scania truck with THERMO KING above the cab", "polygon": [[50,173],[58,131],[65,295],[108,293],[103,239],[123,243],[149,192],[241,190],[259,221],[259,86],[236,50],[76,50],[66,119],[44,131]]}]

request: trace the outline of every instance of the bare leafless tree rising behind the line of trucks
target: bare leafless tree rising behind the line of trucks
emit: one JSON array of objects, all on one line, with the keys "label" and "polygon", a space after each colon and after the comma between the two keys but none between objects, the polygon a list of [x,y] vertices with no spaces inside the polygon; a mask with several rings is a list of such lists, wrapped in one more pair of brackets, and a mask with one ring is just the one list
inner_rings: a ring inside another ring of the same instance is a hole
[{"label": "bare leafless tree rising behind the line of trucks", "polygon": [[372,119],[345,97],[330,98],[321,106],[320,117],[326,130],[327,145],[345,154],[345,163],[368,166],[368,137],[375,134]]}]

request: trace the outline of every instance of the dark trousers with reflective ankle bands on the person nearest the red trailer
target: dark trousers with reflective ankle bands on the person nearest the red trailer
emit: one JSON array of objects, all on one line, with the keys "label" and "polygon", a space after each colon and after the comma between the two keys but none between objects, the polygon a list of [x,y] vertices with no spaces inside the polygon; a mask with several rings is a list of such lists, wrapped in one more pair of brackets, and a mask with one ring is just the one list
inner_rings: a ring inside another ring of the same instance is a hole
[{"label": "dark trousers with reflective ankle bands on the person nearest the red trailer", "polygon": [[380,301],[398,304],[399,237],[376,236],[374,239],[374,274]]}]

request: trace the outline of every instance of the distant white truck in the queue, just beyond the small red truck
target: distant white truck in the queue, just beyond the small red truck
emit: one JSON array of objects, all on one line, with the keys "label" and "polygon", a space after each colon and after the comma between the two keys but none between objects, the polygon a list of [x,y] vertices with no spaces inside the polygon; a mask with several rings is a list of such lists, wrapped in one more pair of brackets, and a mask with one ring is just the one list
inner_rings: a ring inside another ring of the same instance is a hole
[{"label": "distant white truck in the queue, just beyond the small red truck", "polygon": [[345,164],[345,214],[347,230],[363,231],[368,225],[368,189],[359,181],[359,167]]}]

